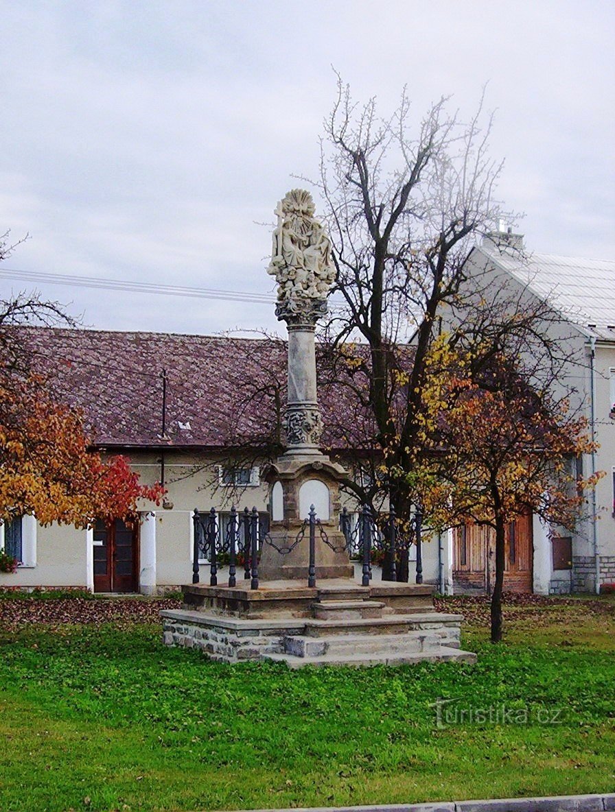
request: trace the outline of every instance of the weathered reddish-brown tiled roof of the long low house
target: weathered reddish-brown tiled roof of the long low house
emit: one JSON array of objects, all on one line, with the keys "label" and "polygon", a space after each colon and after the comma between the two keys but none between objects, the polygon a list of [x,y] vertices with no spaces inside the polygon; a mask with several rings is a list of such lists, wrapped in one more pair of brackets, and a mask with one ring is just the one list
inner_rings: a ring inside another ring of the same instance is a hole
[{"label": "weathered reddish-brown tiled roof of the long low house", "polygon": [[[101,446],[223,447],[258,443],[276,422],[274,392],[286,400],[286,345],[268,339],[20,327],[32,367],[54,395],[84,412]],[[162,370],[166,371],[162,434]],[[323,386],[326,447],[360,430],[346,387]],[[365,436],[365,435],[364,435]],[[351,440],[352,441],[352,440]]]}]

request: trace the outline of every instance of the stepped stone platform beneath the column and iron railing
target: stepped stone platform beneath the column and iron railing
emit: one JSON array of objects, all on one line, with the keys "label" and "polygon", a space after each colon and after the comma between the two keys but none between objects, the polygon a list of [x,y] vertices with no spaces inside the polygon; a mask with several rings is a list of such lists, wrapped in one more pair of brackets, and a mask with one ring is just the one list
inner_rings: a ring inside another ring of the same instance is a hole
[{"label": "stepped stone platform beneath the column and iron railing", "polygon": [[203,650],[236,663],[268,659],[303,665],[401,665],[422,661],[474,662],[460,649],[461,615],[435,611],[433,587],[351,579],[267,581],[184,587],[184,607],[162,611],[167,646]]}]

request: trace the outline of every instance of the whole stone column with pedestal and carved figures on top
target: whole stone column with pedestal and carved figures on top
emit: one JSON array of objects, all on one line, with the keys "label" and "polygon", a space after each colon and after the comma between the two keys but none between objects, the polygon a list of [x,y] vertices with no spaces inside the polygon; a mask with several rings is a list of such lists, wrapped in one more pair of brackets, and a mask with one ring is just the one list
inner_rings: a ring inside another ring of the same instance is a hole
[{"label": "whole stone column with pedestal and carved figures on top", "polygon": [[262,548],[260,574],[263,581],[307,578],[309,532],[304,521],[314,503],[319,520],[316,578],[350,578],[354,570],[339,526],[340,480],[346,472],[319,446],[323,420],[316,393],[314,331],[318,319],[327,315],[327,293],[335,279],[331,244],[314,218],[309,192],[292,189],[275,213],[278,227],[267,271],[278,283],[275,315],[288,326],[287,447],[266,472],[272,543]]}]

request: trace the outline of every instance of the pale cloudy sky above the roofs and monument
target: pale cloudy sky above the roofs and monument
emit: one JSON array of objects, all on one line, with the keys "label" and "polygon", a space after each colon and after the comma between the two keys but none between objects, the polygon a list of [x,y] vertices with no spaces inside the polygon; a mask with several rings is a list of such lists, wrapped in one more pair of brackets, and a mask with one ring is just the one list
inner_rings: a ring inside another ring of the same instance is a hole
[{"label": "pale cloudy sky above the roofs and monument", "polygon": [[4,0],[2,27],[0,234],[28,240],[0,267],[271,293],[38,286],[85,326],[279,330],[273,209],[318,176],[334,68],[383,114],[406,86],[417,119],[487,85],[527,248],[615,258],[612,0]]}]

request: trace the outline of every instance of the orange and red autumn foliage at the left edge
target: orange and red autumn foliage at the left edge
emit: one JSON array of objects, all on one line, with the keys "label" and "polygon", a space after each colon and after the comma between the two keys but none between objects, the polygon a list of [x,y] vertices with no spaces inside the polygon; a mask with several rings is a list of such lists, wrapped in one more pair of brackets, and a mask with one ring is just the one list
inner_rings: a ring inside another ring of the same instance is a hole
[{"label": "orange and red autumn foliage at the left edge", "polygon": [[0,519],[34,514],[42,525],[136,520],[140,499],[159,503],[123,456],[102,460],[80,414],[55,403],[36,375],[0,373]]}]

